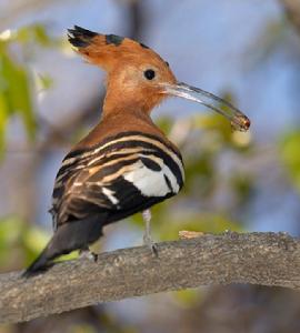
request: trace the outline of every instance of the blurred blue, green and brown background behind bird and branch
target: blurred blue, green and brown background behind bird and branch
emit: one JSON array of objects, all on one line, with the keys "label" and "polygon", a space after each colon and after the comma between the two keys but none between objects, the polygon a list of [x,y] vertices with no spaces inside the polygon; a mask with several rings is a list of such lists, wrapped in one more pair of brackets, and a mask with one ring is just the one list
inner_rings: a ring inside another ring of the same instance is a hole
[{"label": "blurred blue, green and brown background behind bird and branch", "polygon": [[[300,233],[299,0],[0,0],[0,271],[21,270],[50,239],[63,155],[101,115],[103,72],[67,42],[73,24],[127,36],[168,60],[179,81],[231,100],[248,133],[192,102],[153,112],[181,149],[187,183],[153,209],[153,233]],[[136,215],[97,251],[141,244]],[[72,254],[72,258],[77,254]],[[199,287],[87,307],[14,332],[300,332],[300,295],[251,285]]]}]

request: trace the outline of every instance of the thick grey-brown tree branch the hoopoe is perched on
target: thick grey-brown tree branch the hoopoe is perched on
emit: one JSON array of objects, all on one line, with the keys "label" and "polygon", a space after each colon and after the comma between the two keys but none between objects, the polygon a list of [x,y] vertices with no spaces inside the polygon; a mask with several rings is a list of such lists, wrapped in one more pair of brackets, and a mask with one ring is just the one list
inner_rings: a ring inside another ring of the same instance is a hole
[{"label": "thick grey-brown tree branch the hoopoe is perched on", "polygon": [[200,285],[252,283],[300,290],[300,241],[284,233],[226,233],[56,264],[29,280],[0,275],[0,322]]}]

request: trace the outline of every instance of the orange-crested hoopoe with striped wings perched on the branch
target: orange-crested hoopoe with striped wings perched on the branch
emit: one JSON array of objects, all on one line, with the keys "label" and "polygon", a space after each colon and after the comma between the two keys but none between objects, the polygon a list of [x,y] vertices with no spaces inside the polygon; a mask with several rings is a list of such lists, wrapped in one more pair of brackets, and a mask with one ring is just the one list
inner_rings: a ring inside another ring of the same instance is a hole
[{"label": "orange-crested hoopoe with striped wings perched on the branch", "polygon": [[54,233],[26,276],[44,271],[62,254],[88,251],[103,226],[138,212],[146,222],[143,241],[156,251],[149,209],[178,194],[184,182],[180,151],[150,118],[167,97],[204,104],[238,130],[250,125],[233,105],[178,82],[169,63],[142,43],[77,26],[68,37],[88,62],[107,71],[107,94],[100,122],[62,161],[52,194]]}]

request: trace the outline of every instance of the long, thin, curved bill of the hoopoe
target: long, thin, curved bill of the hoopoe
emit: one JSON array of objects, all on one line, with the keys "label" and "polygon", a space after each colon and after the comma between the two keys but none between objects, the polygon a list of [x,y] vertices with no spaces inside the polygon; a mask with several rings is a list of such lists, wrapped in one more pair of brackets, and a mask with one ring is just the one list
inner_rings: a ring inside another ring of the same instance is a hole
[{"label": "long, thin, curved bill of the hoopoe", "polygon": [[[183,82],[179,82],[177,84],[163,84],[163,87],[164,87],[164,93],[198,102],[222,114],[230,121],[231,125],[236,130],[246,132],[250,128],[251,122],[246,114],[243,114],[240,110],[238,110],[228,101],[208,91],[188,85]],[[218,105],[216,105],[216,102],[227,108],[220,109]]]}]

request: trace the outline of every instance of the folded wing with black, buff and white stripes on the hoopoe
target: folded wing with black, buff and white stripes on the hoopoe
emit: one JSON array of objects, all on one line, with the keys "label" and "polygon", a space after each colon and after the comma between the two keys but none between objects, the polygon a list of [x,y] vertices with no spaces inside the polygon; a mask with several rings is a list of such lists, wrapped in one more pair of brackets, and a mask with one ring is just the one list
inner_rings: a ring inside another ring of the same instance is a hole
[{"label": "folded wing with black, buff and white stripes on the hoopoe", "polygon": [[121,133],[89,151],[66,157],[53,191],[56,223],[108,212],[117,221],[179,192],[183,164],[160,139]]}]

